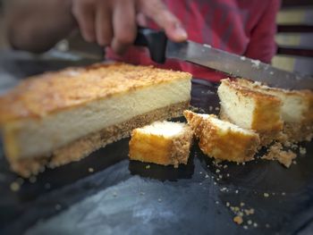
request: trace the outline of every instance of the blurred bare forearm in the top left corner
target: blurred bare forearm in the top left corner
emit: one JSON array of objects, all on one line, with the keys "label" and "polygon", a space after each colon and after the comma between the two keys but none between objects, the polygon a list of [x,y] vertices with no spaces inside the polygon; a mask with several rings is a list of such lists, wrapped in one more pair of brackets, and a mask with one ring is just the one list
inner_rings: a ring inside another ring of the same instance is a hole
[{"label": "blurred bare forearm in the top left corner", "polygon": [[75,28],[71,0],[10,0],[5,7],[7,38],[21,50],[43,52]]}]

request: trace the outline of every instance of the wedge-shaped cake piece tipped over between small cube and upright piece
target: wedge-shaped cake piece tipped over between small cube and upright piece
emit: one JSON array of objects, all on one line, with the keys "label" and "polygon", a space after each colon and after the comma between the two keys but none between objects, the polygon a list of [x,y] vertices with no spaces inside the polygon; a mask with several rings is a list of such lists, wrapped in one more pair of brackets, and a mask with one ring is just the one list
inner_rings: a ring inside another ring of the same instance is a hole
[{"label": "wedge-shaped cake piece tipped over between small cube and upright piece", "polygon": [[219,120],[213,114],[184,111],[204,154],[219,160],[237,163],[250,161],[257,153],[260,140],[253,130]]}]

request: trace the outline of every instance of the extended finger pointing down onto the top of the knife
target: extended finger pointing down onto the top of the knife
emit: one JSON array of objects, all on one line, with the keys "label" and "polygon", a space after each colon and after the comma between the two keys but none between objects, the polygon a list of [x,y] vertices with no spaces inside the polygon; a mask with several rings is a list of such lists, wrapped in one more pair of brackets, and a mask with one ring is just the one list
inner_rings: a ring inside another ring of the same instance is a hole
[{"label": "extended finger pointing down onto the top of the knife", "polygon": [[140,11],[146,14],[162,29],[165,29],[165,34],[168,38],[175,42],[181,42],[188,38],[186,30],[182,27],[173,13],[171,13],[165,4],[160,0],[140,1]]}]

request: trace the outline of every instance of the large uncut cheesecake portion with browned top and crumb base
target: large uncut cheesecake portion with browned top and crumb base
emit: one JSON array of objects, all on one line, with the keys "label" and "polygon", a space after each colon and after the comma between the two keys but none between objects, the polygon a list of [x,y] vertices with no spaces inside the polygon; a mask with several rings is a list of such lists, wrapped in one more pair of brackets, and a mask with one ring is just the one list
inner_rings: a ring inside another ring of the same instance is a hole
[{"label": "large uncut cheesecake portion with browned top and crumb base", "polygon": [[134,128],[181,116],[191,75],[124,63],[47,72],[0,97],[5,155],[28,177],[78,161]]}]

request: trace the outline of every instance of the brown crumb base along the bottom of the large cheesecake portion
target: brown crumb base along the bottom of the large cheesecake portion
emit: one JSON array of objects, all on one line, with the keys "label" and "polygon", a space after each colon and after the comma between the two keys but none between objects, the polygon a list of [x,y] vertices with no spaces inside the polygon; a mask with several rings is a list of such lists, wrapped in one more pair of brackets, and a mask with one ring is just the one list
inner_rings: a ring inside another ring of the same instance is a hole
[{"label": "brown crumb base along the bottom of the large cheesecake portion", "polygon": [[60,147],[50,156],[11,161],[12,170],[23,177],[30,177],[30,175],[38,174],[45,166],[53,168],[55,166],[79,161],[81,158],[96,151],[100,147],[105,147],[107,144],[128,137],[131,130],[135,128],[142,127],[150,122],[181,116],[182,111],[188,106],[189,102],[182,102],[142,114],[127,122],[100,130],[97,133],[89,134],[65,147]]}]

